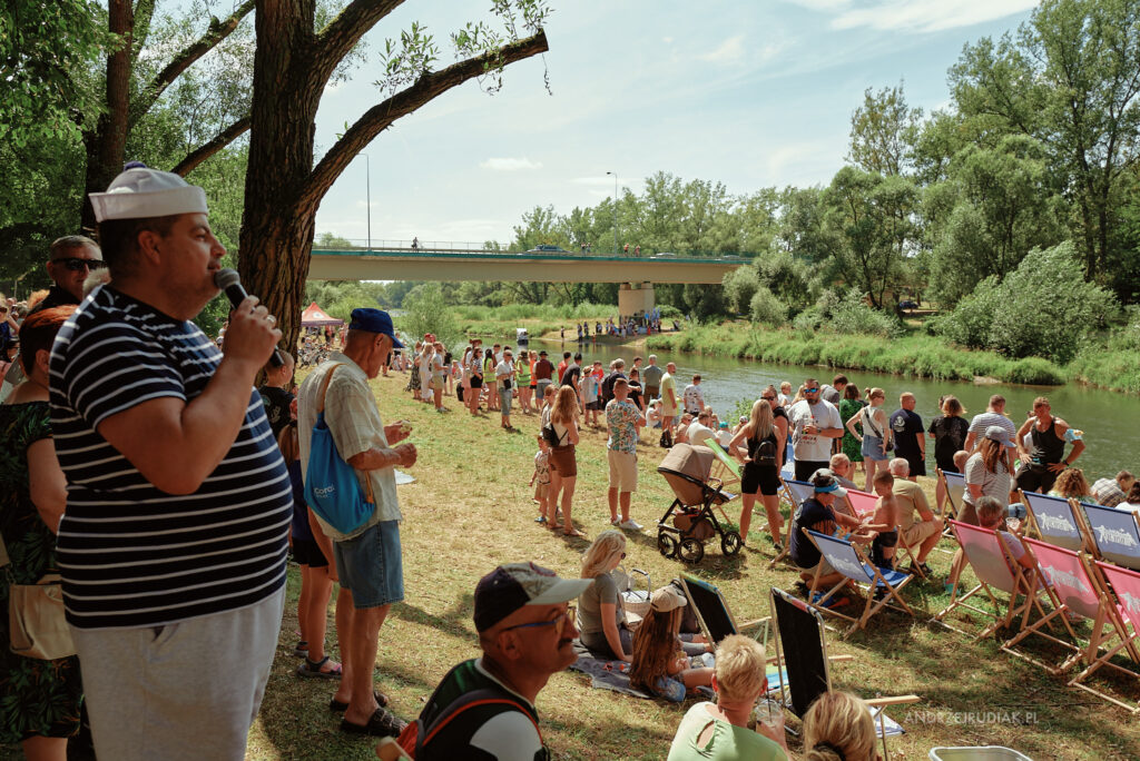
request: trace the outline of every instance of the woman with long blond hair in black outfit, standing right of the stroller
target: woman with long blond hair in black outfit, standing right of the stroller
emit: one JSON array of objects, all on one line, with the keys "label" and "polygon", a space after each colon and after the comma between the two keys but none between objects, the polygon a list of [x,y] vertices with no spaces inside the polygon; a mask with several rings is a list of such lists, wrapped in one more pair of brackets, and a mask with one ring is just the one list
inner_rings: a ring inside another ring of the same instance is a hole
[{"label": "woman with long blond hair in black outfit, standing right of the stroller", "polygon": [[[744,463],[744,472],[740,481],[741,512],[740,538],[748,542],[748,527],[752,522],[752,506],[759,496],[764,502],[764,512],[768,517],[768,531],[772,543],[780,551],[780,537],[783,518],[780,515],[780,464],[783,459],[787,432],[781,434],[772,414],[772,402],[758,399],[752,404],[752,411],[746,423],[728,442],[728,452]],[[762,444],[769,443],[762,457]],[[740,445],[746,444],[747,455],[741,455]]]}]

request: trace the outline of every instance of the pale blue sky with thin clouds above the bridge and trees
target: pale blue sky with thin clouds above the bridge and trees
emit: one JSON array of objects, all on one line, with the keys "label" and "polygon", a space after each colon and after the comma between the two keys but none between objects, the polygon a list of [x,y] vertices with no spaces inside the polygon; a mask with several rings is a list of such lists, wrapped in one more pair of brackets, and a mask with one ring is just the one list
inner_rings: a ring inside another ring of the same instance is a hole
[{"label": "pale blue sky with thin clouds above the bridge and trees", "polygon": [[[448,33],[489,2],[408,2],[367,38],[412,21]],[[514,64],[494,96],[467,83],[369,146],[372,237],[507,242],[535,205],[560,213],[635,193],[662,170],[733,194],[826,183],[842,165],[866,88],[904,82],[927,112],[948,100],[962,46],[1028,19],[1031,0],[552,0],[551,50]],[[551,90],[543,84],[544,67]],[[317,124],[332,145],[382,99],[375,56],[331,87]],[[317,231],[363,239],[365,159],[325,196]]]}]

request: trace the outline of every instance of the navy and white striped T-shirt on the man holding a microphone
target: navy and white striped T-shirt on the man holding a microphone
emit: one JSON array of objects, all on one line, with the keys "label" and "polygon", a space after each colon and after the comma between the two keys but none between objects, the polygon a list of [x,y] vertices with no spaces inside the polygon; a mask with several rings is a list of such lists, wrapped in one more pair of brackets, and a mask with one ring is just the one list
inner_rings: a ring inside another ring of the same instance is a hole
[{"label": "navy and white striped T-shirt on the man holding a microphone", "polygon": [[293,492],[252,387],[234,445],[193,494],[158,490],[96,432],[148,400],[192,402],[220,361],[193,322],[109,286],[59,330],[51,428],[67,476],[58,555],[73,625],[164,625],[247,607],[284,586]]}]

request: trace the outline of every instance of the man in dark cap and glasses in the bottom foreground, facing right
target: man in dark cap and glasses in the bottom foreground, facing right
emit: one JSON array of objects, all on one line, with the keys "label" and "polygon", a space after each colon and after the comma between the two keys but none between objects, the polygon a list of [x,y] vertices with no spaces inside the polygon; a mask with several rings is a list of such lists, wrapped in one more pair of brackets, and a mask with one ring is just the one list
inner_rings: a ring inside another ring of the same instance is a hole
[{"label": "man in dark cap and glasses in the bottom foreground, facing right", "polygon": [[[551,674],[577,660],[568,603],[592,583],[560,579],[534,563],[507,563],[480,579],[474,622],[483,655],[451,669],[435,688],[420,714],[420,731],[454,717],[416,758],[548,759],[535,698]],[[474,698],[478,707],[457,712]]]}]

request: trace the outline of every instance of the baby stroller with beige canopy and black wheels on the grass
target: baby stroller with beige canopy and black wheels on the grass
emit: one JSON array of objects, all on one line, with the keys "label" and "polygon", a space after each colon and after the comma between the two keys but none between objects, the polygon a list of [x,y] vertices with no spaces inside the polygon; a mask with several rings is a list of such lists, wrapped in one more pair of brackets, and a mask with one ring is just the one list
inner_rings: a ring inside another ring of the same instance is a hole
[{"label": "baby stroller with beige canopy and black wheels on the grass", "polygon": [[739,533],[727,530],[724,510],[723,524],[712,512],[714,506],[719,509],[736,497],[722,491],[724,484],[718,478],[709,477],[712,459],[708,447],[675,444],[657,467],[677,497],[657,523],[657,548],[661,555],[700,563],[705,557],[705,540],[716,534],[720,535],[725,555],[735,555],[744,546]]}]

